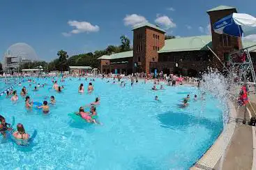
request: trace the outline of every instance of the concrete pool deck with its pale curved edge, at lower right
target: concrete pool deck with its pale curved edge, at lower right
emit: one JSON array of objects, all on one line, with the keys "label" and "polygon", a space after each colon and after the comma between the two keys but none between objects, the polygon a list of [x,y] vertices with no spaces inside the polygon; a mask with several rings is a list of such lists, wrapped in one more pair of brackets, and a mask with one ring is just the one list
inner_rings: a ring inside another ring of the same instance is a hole
[{"label": "concrete pool deck with its pale curved edge, at lower right", "polygon": [[246,121],[250,121],[251,116],[256,116],[256,95],[253,93],[250,95],[250,103],[247,109],[237,107],[236,100],[229,103],[230,120],[227,128],[190,169],[256,169],[255,127],[248,125],[248,122],[243,124],[245,109]]}]

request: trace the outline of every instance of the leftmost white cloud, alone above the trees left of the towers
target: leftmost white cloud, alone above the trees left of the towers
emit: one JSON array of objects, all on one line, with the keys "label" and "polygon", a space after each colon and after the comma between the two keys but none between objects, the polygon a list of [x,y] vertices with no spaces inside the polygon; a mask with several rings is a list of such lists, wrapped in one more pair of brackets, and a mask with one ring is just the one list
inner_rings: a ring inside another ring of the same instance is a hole
[{"label": "leftmost white cloud, alone above the trees left of the towers", "polygon": [[73,26],[74,29],[69,33],[62,33],[63,36],[71,36],[73,33],[89,33],[100,31],[100,27],[98,25],[92,25],[90,22],[78,22],[76,20],[70,20],[68,21],[68,25]]}]

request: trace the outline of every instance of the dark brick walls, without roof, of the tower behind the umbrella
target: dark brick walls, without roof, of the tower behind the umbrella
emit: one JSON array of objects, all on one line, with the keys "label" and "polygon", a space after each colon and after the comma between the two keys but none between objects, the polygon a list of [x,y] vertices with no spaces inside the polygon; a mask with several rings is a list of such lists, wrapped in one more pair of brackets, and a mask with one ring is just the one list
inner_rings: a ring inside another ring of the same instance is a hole
[{"label": "dark brick walls, without roof, of the tower behind the umbrella", "polygon": [[[234,47],[241,48],[241,40],[240,38],[229,36],[230,38],[229,45],[223,47],[223,44],[221,43],[221,38],[220,38],[221,35],[213,31],[213,24],[218,20],[220,20],[221,18],[227,15],[230,15],[232,13],[236,13],[236,9],[218,10],[218,11],[209,12],[209,17],[211,22],[213,51],[217,54],[217,56],[220,58],[220,60],[223,63],[225,63],[225,56],[224,56],[225,53],[232,52],[234,50]],[[218,61],[216,57],[213,57],[213,62],[211,65],[216,68],[222,68],[220,61]]]}]

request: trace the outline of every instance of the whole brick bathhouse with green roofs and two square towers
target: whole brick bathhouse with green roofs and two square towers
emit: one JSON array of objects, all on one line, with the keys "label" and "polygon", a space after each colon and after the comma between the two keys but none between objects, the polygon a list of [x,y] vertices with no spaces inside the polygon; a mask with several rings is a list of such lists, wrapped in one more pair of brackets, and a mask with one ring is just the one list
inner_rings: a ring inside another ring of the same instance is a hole
[{"label": "whole brick bathhouse with green roofs and two square towers", "polygon": [[[221,18],[236,13],[236,8],[218,6],[207,11],[211,28]],[[243,47],[256,45],[256,42],[243,42]],[[241,39],[220,35],[211,29],[211,36],[194,36],[165,40],[165,31],[150,23],[133,28],[133,51],[101,56],[100,71],[105,73],[160,72],[181,73],[196,76],[208,66],[221,68],[221,64],[211,53],[213,49],[226,63],[229,52],[241,49]],[[251,53],[256,62],[256,50]]]}]

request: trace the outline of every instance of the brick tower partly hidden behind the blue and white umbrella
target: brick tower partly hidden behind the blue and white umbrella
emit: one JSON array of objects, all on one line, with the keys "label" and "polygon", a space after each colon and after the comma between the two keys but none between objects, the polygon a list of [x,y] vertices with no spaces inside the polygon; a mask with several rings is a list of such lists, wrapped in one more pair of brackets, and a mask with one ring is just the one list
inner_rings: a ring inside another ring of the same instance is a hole
[{"label": "brick tower partly hidden behind the blue and white umbrella", "polygon": [[[213,31],[213,24],[227,15],[237,13],[236,8],[230,6],[218,6],[211,10],[207,10],[207,13],[209,14],[211,21],[213,51],[223,63],[227,63],[229,52],[232,52],[234,49],[241,49],[241,39],[215,33]],[[212,66],[214,68],[219,68],[220,70],[223,68],[216,57],[213,57]]]}]

